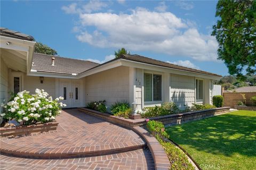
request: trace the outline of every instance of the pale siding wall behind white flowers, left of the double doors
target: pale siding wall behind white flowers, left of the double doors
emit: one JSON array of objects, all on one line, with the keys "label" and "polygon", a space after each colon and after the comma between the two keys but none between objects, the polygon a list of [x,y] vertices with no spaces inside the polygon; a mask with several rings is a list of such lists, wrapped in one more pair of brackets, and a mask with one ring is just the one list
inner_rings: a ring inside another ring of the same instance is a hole
[{"label": "pale siding wall behind white flowers, left of the double doors", "polygon": [[36,89],[44,89],[49,96],[52,96],[53,99],[56,98],[55,78],[44,77],[44,82],[41,83],[39,77],[25,75],[23,80],[24,90],[30,91],[31,95],[35,94]]}]

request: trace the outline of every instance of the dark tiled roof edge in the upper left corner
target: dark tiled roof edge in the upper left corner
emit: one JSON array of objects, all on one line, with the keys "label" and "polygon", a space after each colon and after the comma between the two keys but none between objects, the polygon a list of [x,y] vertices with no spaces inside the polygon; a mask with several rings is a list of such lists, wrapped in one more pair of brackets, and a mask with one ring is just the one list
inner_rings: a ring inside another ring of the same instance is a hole
[{"label": "dark tiled roof edge in the upper left corner", "polygon": [[20,33],[18,31],[9,30],[7,28],[0,27],[0,35],[5,37],[23,39],[28,41],[35,41],[34,37]]}]

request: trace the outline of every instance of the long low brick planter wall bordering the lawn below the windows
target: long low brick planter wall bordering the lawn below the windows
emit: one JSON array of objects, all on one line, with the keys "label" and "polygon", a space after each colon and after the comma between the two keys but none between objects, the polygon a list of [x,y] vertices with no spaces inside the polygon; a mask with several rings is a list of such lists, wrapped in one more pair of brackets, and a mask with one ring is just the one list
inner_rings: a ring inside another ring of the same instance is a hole
[{"label": "long low brick planter wall bordering the lawn below the windows", "polygon": [[230,107],[219,107],[219,108],[207,109],[204,111],[195,111],[195,112],[187,112],[187,113],[180,113],[180,114],[173,114],[173,115],[150,117],[149,120],[159,121],[165,125],[166,124],[175,125],[175,124],[181,124],[185,122],[200,120],[202,118],[211,117],[211,116],[219,115],[222,113],[227,113],[229,112],[229,109]]}]

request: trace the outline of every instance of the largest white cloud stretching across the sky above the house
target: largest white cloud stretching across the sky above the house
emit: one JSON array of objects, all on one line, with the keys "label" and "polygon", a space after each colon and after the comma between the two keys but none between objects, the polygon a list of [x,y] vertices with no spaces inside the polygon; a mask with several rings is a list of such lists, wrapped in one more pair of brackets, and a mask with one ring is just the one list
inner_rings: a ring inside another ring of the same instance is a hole
[{"label": "largest white cloud stretching across the sky above the house", "polygon": [[[76,37],[83,43],[108,48],[125,47],[132,52],[147,50],[199,61],[217,61],[215,37],[203,35],[191,21],[171,12],[135,8],[131,13],[81,13]],[[94,28],[92,31],[86,28]]]}]

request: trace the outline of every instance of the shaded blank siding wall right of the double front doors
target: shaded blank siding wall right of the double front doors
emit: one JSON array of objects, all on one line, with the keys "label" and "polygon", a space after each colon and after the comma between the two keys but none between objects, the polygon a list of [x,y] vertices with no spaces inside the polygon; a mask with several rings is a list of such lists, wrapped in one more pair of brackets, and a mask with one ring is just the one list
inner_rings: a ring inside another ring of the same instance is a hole
[{"label": "shaded blank siding wall right of the double front doors", "polygon": [[116,101],[129,102],[129,67],[120,66],[86,77],[84,94],[86,104],[104,99],[108,107]]}]

